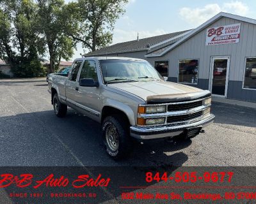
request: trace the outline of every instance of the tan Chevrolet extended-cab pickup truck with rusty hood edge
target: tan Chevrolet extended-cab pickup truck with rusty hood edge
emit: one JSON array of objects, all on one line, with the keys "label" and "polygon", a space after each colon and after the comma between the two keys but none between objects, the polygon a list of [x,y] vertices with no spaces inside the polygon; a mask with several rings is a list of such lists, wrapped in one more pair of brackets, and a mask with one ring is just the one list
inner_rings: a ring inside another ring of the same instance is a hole
[{"label": "tan Chevrolet extended-cab pickup truck with rusty hood edge", "polygon": [[211,92],[166,82],[142,59],[76,59],[68,77],[49,75],[48,91],[56,116],[70,106],[101,124],[113,159],[131,152],[133,138],[192,138],[214,120]]}]

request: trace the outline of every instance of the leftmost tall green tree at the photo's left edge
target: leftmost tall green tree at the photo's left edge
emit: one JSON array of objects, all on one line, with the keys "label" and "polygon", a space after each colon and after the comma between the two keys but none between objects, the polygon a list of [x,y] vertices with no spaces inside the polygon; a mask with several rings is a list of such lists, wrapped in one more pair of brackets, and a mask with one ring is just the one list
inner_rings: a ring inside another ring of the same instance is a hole
[{"label": "leftmost tall green tree at the photo's left edge", "polygon": [[44,45],[35,29],[36,4],[33,0],[5,0],[0,6],[1,57],[17,77],[44,75],[38,57],[44,53]]}]

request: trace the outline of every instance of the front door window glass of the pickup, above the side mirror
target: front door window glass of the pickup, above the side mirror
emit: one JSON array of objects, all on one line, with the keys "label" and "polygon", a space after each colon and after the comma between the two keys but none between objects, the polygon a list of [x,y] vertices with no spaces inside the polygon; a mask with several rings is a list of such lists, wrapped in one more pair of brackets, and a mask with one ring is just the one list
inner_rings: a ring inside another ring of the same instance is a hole
[{"label": "front door window glass of the pickup, above the side mirror", "polygon": [[86,60],[84,61],[83,68],[81,69],[80,78],[93,78],[95,82],[98,82],[97,69],[95,61]]}]

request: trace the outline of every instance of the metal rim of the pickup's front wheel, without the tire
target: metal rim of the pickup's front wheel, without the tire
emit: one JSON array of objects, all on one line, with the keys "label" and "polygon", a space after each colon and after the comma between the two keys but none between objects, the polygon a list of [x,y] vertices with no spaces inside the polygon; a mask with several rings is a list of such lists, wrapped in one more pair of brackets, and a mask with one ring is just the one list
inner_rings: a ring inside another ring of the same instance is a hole
[{"label": "metal rim of the pickup's front wheel, without the tire", "polygon": [[106,143],[109,147],[109,149],[113,152],[118,150],[119,147],[119,138],[118,133],[116,131],[115,126],[112,124],[108,126],[106,129]]}]

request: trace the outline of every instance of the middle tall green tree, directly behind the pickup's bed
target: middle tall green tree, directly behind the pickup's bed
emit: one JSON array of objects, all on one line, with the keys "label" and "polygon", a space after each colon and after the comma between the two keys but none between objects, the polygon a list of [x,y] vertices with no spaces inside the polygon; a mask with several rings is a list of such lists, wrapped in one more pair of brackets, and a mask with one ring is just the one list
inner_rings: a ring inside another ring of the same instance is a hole
[{"label": "middle tall green tree, directly behind the pickup's bed", "polygon": [[38,0],[38,27],[44,36],[50,57],[50,71],[60,64],[61,58],[70,59],[75,43],[65,34],[67,27],[63,0]]}]

